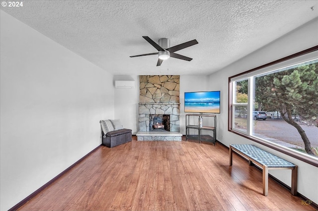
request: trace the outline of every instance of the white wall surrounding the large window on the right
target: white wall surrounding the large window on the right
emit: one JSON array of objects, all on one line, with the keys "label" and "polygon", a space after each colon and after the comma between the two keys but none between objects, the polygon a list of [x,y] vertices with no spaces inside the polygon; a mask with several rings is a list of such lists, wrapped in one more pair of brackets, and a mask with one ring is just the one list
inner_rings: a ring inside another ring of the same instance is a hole
[{"label": "white wall surrounding the large window on the right", "polygon": [[[285,154],[259,145],[228,131],[228,80],[229,77],[246,70],[261,66],[279,58],[297,53],[318,45],[318,19],[288,33],[258,51],[234,62],[226,68],[210,75],[210,88],[221,90],[221,114],[217,119],[217,138],[224,145],[254,144],[279,157],[285,158],[298,168],[298,187],[300,194],[318,204],[318,168]],[[287,172],[288,171],[288,172]],[[270,174],[288,186],[291,185],[290,170],[270,170]],[[270,190],[269,190],[270,194]]]}]

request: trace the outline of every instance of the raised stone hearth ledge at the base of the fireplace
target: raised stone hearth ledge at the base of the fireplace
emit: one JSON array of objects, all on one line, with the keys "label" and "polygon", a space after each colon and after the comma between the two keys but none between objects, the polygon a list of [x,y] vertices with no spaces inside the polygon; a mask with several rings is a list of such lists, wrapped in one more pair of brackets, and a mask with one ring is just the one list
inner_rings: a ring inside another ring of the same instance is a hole
[{"label": "raised stone hearth ledge at the base of the fireplace", "polygon": [[179,132],[137,132],[137,141],[182,141]]}]

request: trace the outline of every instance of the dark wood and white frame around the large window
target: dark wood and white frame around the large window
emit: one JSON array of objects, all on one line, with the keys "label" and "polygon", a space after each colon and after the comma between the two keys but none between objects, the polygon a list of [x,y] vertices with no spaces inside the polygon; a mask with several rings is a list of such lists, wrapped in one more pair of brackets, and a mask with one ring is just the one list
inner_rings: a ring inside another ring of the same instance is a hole
[{"label": "dark wood and white frame around the large window", "polygon": [[[239,78],[239,77],[248,78],[247,119],[249,121],[251,121],[251,117],[249,115],[250,114],[249,110],[251,109],[251,106],[252,106],[252,103],[251,103],[251,101],[252,101],[252,97],[251,97],[252,93],[250,93],[251,92],[250,86],[253,86],[253,84],[251,82],[252,80],[249,80],[250,76],[247,76],[247,77],[244,77],[244,76],[245,75],[251,75],[253,72],[259,71],[260,69],[263,69],[265,67],[269,67],[269,66],[272,66],[272,65],[275,65],[275,64],[280,64],[280,63],[286,62],[286,61],[288,62],[288,60],[290,60],[290,59],[297,58],[299,56],[306,55],[308,53],[312,53],[312,52],[316,52],[316,51],[318,51],[318,46],[314,46],[314,47],[306,49],[304,51],[301,51],[301,52],[298,52],[298,53],[294,53],[292,55],[277,59],[275,61],[269,62],[267,64],[261,65],[259,67],[255,67],[253,69],[250,69],[250,70],[247,70],[245,72],[242,72],[242,73],[239,73],[237,75],[229,77],[229,81],[228,81],[228,84],[229,84],[229,87],[228,87],[228,89],[229,89],[229,95],[228,95],[228,97],[229,97],[229,99],[228,99],[228,102],[229,102],[229,108],[228,108],[228,117],[229,117],[228,118],[228,131],[230,131],[232,133],[235,133],[235,134],[237,134],[239,136],[242,136],[244,138],[247,138],[247,139],[249,139],[251,141],[254,141],[256,143],[259,143],[261,145],[264,145],[266,147],[269,147],[269,148],[271,148],[273,150],[276,150],[278,152],[281,152],[283,154],[286,154],[288,156],[291,156],[293,158],[302,160],[302,161],[304,161],[306,163],[309,163],[311,165],[314,165],[314,166],[318,167],[318,160],[316,160],[316,159],[310,158],[309,156],[306,156],[306,155],[302,155],[302,154],[296,153],[293,150],[288,150],[288,149],[282,148],[280,146],[276,146],[275,144],[271,144],[270,142],[261,140],[259,138],[254,137],[254,136],[250,136],[250,135],[248,135],[248,134],[250,134],[250,133],[248,133],[248,131],[247,131],[247,134],[245,134],[245,133],[242,133],[242,132],[239,132],[239,131],[235,130],[233,128],[233,123],[234,123],[234,121],[233,121],[233,117],[234,117],[233,114],[234,113],[233,112],[235,112],[233,110],[233,107],[236,104],[233,104],[234,93],[233,93],[233,83],[232,83],[234,78]],[[254,75],[256,75],[256,73]],[[248,126],[247,130],[249,130],[250,129],[250,124],[247,124],[247,126]]]}]

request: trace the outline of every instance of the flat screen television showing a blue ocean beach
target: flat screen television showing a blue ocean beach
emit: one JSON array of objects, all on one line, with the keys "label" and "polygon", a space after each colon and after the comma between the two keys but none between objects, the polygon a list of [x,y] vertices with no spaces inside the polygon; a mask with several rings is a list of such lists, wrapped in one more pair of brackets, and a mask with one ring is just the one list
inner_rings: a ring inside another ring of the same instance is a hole
[{"label": "flat screen television showing a blue ocean beach", "polygon": [[220,113],[220,91],[185,92],[184,112]]}]

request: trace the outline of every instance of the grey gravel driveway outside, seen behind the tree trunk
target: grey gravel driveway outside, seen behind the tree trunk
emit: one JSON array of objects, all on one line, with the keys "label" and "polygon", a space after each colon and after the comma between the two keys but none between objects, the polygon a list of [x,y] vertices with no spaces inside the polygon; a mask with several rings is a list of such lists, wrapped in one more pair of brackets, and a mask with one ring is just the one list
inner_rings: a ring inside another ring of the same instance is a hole
[{"label": "grey gravel driveway outside, seen behind the tree trunk", "polygon": [[[303,124],[301,125],[301,127],[305,130],[306,135],[308,136],[309,141],[311,143],[311,146],[314,148],[318,147],[318,127],[307,126]],[[304,142],[300,134],[298,133],[297,129],[294,126],[285,122],[284,120],[256,120],[255,133],[273,139],[278,139],[280,141],[284,141],[304,149]]]}]

